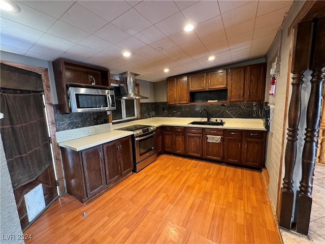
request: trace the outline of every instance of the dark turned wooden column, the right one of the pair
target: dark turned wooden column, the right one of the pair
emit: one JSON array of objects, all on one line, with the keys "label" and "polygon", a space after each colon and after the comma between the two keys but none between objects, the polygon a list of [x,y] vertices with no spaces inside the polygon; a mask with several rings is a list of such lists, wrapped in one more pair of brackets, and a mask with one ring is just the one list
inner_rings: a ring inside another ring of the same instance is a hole
[{"label": "dark turned wooden column, the right one of the pair", "polygon": [[312,70],[311,91],[307,106],[307,128],[302,155],[302,177],[296,197],[296,231],[308,234],[311,205],[313,172],[319,133],[321,88],[325,76],[325,17],[314,20],[313,41],[310,58]]}]

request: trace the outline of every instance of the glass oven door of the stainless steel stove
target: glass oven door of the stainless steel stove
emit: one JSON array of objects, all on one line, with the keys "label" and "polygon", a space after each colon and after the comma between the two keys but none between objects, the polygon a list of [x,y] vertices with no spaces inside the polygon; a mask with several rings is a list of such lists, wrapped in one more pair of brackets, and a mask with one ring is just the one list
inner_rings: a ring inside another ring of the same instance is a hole
[{"label": "glass oven door of the stainless steel stove", "polygon": [[155,132],[143,137],[136,137],[137,163],[155,153]]}]

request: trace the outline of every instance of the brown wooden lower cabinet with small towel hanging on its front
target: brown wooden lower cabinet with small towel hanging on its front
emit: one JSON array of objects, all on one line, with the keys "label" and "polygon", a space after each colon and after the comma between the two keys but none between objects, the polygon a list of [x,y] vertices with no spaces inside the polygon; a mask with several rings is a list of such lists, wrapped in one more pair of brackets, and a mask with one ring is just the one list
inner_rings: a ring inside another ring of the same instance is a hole
[{"label": "brown wooden lower cabinet with small towel hanging on its front", "polygon": [[[208,136],[220,136],[219,143],[208,142]],[[223,130],[220,129],[204,129],[203,137],[203,157],[223,161]]]}]

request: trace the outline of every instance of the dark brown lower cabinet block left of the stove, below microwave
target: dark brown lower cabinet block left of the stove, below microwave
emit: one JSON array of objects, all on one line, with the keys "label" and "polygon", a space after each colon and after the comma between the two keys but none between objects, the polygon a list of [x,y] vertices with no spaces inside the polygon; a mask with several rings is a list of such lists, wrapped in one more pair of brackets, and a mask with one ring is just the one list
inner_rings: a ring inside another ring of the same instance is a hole
[{"label": "dark brown lower cabinet block left of the stove, below microwave", "polygon": [[131,136],[82,151],[61,147],[67,192],[86,203],[133,170]]}]

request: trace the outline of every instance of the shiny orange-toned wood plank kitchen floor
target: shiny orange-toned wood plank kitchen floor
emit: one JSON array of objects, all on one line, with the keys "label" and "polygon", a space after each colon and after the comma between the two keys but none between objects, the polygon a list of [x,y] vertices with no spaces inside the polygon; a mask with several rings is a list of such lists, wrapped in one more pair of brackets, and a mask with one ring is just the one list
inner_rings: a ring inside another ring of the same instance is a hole
[{"label": "shiny orange-toned wood plank kitchen floor", "polygon": [[260,172],[170,155],[86,205],[60,197],[24,234],[25,243],[281,243]]}]

